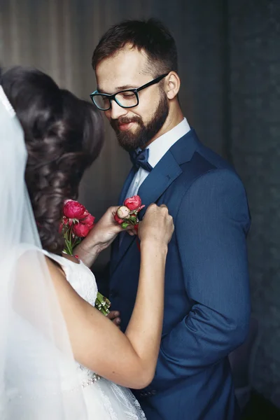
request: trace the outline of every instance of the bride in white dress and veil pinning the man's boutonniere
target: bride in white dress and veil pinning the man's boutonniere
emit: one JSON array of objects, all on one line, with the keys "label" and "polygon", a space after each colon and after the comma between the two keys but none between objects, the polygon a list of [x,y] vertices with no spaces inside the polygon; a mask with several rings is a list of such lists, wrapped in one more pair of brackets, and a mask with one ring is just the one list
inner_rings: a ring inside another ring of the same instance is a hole
[{"label": "bride in white dress and veil pinning the man's boutonniere", "polygon": [[[64,200],[77,197],[102,132],[92,105],[41,71],[1,77],[1,419],[145,419],[127,388],[144,388],[155,372],[172,217],[152,204],[139,224],[139,287],[125,334],[94,308],[94,275],[62,253],[59,235]],[[122,230],[116,209],[92,232],[95,256]]]}]

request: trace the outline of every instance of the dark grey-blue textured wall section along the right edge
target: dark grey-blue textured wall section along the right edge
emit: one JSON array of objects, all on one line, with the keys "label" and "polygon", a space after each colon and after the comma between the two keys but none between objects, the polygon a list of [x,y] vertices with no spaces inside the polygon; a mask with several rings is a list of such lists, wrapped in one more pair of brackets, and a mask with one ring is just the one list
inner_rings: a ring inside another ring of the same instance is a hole
[{"label": "dark grey-blue textured wall section along the right edge", "polygon": [[280,1],[229,1],[230,152],[251,207],[260,346],[253,384],[280,407]]}]

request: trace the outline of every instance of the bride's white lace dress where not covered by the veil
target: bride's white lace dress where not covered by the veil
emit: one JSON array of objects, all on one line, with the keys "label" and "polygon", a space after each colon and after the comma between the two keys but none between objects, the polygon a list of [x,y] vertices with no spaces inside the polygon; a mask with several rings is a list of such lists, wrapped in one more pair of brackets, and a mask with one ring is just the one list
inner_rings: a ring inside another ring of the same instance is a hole
[{"label": "bride's white lace dress where not covered by the veil", "polygon": [[[97,297],[97,283],[90,269],[82,261],[80,264],[76,264],[58,255],[45,254],[62,266],[66,279],[78,295],[94,306]],[[88,420],[146,419],[139,402],[129,389],[97,377],[94,372],[79,363],[77,363],[77,370],[83,387]],[[67,392],[67,389],[65,391]]]}]

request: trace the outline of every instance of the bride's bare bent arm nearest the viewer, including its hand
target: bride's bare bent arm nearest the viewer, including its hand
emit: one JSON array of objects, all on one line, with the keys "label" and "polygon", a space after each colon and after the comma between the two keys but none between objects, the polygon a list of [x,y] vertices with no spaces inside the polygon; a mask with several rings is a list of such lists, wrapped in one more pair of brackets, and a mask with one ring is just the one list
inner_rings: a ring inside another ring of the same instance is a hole
[{"label": "bride's bare bent arm nearest the viewer, including its hand", "polygon": [[[162,332],[167,244],[173,230],[167,207],[152,204],[139,225],[139,288],[125,334],[85,302],[62,270],[48,260],[75,359],[117,384],[144,388],[153,379]],[[153,305],[149,295],[153,295]]]}]

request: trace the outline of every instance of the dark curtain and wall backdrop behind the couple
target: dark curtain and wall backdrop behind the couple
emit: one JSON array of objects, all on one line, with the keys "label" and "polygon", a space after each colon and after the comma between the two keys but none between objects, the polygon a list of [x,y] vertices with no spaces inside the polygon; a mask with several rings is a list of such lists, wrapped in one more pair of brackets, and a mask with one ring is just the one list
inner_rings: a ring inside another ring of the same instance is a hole
[{"label": "dark curtain and wall backdrop behind the couple", "polygon": [[[0,62],[34,65],[88,98],[102,33],[127,18],[160,18],[179,50],[180,99],[207,146],[235,165],[251,207],[248,237],[256,391],[280,407],[280,0],[0,0]],[[130,168],[106,125],[106,146],[80,200],[99,218]],[[109,253],[99,258],[97,269]]]}]

